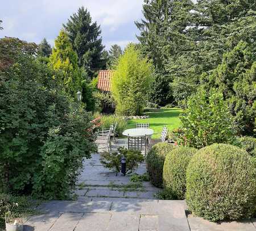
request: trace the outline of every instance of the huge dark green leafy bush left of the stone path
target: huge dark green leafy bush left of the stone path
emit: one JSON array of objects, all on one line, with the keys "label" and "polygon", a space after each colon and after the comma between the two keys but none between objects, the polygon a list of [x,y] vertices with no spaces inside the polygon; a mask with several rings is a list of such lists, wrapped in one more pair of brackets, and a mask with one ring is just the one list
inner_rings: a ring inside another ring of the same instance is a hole
[{"label": "huge dark green leafy bush left of the stone path", "polygon": [[90,116],[56,86],[57,75],[20,55],[0,83],[0,186],[65,199],[94,150]]}]

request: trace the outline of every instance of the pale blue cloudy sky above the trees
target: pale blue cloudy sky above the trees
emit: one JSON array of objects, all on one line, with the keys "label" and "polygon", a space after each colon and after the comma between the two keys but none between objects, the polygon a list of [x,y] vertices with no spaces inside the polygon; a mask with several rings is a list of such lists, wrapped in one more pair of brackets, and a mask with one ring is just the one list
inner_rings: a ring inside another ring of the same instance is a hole
[{"label": "pale blue cloudy sky above the trees", "polygon": [[139,31],[134,21],[142,16],[143,0],[3,0],[0,37],[18,37],[37,44],[46,37],[53,45],[63,23],[84,6],[93,22],[101,26],[106,49],[118,44],[124,48],[136,42]]}]

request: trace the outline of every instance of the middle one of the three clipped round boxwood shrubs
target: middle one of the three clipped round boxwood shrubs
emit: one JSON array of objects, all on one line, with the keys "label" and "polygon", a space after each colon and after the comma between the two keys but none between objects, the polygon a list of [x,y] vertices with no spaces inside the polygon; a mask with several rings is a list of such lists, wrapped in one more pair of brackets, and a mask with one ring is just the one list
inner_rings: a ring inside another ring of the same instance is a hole
[{"label": "middle one of the three clipped round boxwood shrubs", "polygon": [[183,200],[186,191],[186,170],[188,163],[197,152],[195,148],[180,146],[168,153],[163,167],[163,184],[174,199]]}]

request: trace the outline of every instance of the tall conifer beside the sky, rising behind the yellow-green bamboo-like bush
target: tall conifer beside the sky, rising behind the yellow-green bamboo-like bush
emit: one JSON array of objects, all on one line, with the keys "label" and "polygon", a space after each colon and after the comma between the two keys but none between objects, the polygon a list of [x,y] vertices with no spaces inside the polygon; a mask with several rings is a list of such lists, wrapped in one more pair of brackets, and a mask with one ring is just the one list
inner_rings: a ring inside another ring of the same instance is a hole
[{"label": "tall conifer beside the sky, rising behind the yellow-green bamboo-like bush", "polygon": [[[150,99],[164,105],[172,101],[172,76],[167,64],[179,57],[182,48],[188,49],[185,28],[188,25],[191,1],[144,0],[144,19],[135,24],[141,31],[138,40],[143,53],[155,65],[156,83],[152,85]],[[190,44],[189,44],[190,45]]]}]

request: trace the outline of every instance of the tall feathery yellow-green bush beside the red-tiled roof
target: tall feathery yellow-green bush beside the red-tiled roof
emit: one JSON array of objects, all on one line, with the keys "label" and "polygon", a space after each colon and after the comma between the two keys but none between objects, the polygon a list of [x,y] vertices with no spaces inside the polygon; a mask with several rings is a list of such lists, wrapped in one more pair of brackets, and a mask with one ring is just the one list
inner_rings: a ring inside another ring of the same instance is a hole
[{"label": "tall feathery yellow-green bush beside the red-tiled roof", "polygon": [[119,115],[140,115],[146,103],[153,66],[130,44],[119,58],[112,78],[112,93]]}]

